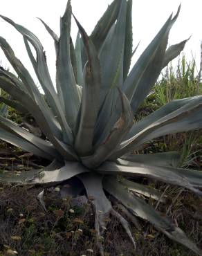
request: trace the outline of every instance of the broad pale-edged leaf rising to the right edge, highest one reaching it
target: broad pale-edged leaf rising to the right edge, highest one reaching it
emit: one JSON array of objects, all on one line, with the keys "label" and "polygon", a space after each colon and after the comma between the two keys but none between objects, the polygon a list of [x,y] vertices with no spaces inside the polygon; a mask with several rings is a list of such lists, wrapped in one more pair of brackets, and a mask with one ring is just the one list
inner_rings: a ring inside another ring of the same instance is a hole
[{"label": "broad pale-edged leaf rising to the right edge, highest one reaching it", "polygon": [[113,158],[122,156],[132,149],[138,149],[140,145],[152,138],[180,131],[190,131],[202,127],[201,119],[202,97],[194,98],[189,104],[160,118],[152,125],[140,131],[136,136],[125,140],[120,144],[119,149],[113,154]]}]

